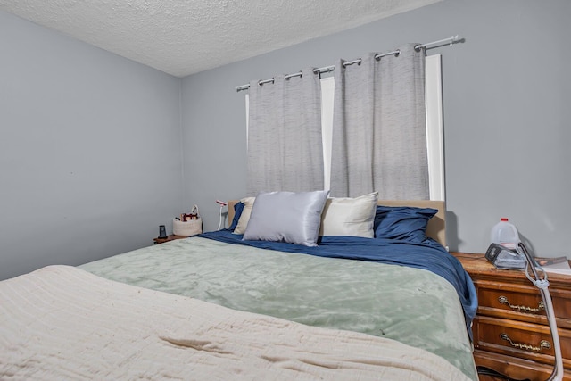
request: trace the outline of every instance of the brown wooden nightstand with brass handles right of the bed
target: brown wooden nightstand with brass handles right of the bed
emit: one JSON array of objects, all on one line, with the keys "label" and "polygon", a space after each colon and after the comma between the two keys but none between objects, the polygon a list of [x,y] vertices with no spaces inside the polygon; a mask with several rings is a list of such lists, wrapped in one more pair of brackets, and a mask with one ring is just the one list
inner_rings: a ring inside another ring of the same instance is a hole
[{"label": "brown wooden nightstand with brass handles right of the bed", "polygon": [[[524,271],[495,269],[484,254],[451,253],[478,294],[472,326],[477,366],[515,379],[545,380],[554,362],[542,295]],[[548,273],[565,367],[571,380],[571,276]],[[486,378],[482,378],[486,379]]]}]

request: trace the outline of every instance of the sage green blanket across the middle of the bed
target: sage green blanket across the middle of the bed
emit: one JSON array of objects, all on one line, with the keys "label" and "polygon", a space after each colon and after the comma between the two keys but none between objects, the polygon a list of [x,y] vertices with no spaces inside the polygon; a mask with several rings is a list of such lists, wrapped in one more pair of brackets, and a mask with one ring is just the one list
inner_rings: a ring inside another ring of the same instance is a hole
[{"label": "sage green blanket across the middle of the bed", "polygon": [[356,331],[433,352],[477,380],[456,291],[423,269],[191,237],[80,266],[238,311]]}]

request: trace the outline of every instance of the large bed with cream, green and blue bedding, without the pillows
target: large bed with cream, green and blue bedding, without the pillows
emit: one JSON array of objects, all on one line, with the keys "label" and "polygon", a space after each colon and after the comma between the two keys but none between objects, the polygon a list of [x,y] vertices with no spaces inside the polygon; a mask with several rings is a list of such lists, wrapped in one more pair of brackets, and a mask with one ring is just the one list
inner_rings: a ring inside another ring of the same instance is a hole
[{"label": "large bed with cream, green and blue bedding, without the pillows", "polygon": [[315,245],[244,240],[246,203],[233,229],[0,282],[0,378],[477,379],[442,202],[375,199],[375,226],[383,208],[434,210],[421,240]]}]

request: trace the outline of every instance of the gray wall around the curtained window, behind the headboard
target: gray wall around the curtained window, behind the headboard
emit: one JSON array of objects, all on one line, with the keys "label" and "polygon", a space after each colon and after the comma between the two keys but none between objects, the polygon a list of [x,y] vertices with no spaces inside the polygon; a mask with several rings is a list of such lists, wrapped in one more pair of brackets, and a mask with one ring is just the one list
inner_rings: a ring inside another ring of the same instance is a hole
[{"label": "gray wall around the curtained window, behind the headboard", "polygon": [[[244,93],[234,87],[339,57],[459,34],[443,54],[451,250],[484,252],[501,217],[543,256],[567,254],[571,230],[571,62],[567,0],[448,0],[183,80],[187,205],[218,227],[216,198],[245,194]],[[255,28],[255,26],[252,26]]]}]

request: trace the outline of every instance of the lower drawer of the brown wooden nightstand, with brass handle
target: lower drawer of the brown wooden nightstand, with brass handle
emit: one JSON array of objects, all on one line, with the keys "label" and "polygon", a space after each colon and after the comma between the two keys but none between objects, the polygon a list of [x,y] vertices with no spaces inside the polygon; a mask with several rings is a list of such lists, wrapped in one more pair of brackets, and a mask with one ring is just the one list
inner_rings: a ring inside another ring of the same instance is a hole
[{"label": "lower drawer of the brown wooden nightstand, with brass handle", "polygon": [[[473,331],[475,347],[480,350],[553,363],[554,351],[549,327],[478,316],[474,319]],[[571,332],[559,329],[559,342],[563,358],[570,359]],[[571,360],[564,360],[564,366],[571,367]]]}]

